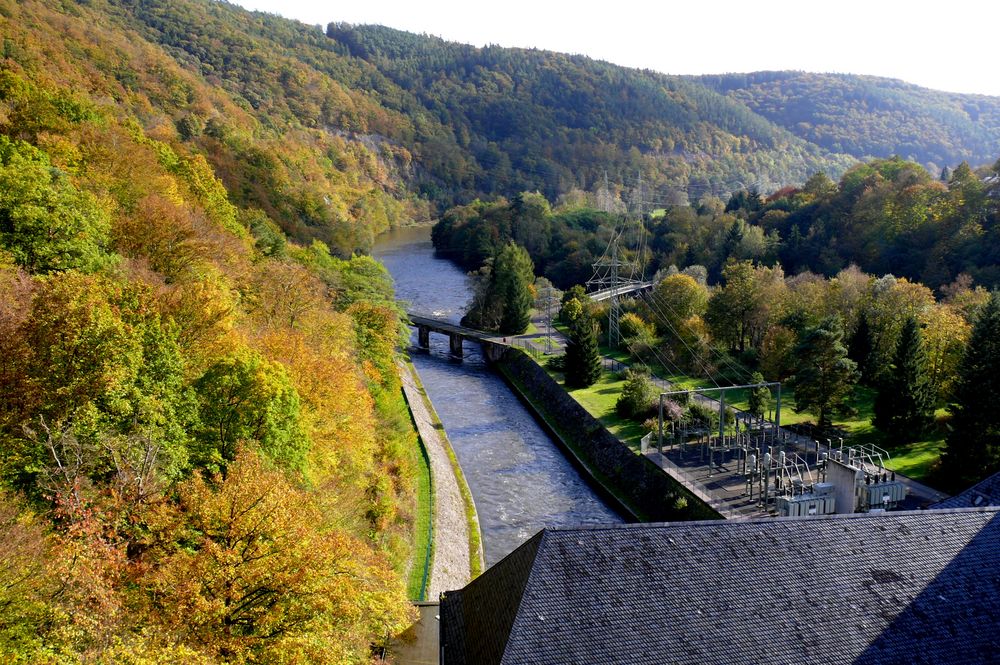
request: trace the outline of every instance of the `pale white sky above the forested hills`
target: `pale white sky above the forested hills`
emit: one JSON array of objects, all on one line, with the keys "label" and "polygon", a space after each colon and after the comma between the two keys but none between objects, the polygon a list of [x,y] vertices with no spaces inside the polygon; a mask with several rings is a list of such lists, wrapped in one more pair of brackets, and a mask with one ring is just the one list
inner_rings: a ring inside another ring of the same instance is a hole
[{"label": "pale white sky above the forested hills", "polygon": [[995,0],[234,1],[309,24],[377,23],[667,74],[796,69],[1000,95]]}]

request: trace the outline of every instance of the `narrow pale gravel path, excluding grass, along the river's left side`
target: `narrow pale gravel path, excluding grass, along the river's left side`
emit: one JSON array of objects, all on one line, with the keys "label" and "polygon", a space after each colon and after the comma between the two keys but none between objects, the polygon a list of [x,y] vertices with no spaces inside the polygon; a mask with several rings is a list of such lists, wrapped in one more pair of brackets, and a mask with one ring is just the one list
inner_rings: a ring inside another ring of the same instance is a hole
[{"label": "narrow pale gravel path, excluding grass, along the river's left side", "polygon": [[431,484],[434,486],[434,561],[431,564],[431,584],[428,600],[469,583],[469,526],[465,519],[465,504],[458,489],[458,480],[448,460],[443,430],[424,402],[424,396],[411,374],[411,366],[400,365],[403,391],[410,403],[417,431],[427,447],[431,461]]}]

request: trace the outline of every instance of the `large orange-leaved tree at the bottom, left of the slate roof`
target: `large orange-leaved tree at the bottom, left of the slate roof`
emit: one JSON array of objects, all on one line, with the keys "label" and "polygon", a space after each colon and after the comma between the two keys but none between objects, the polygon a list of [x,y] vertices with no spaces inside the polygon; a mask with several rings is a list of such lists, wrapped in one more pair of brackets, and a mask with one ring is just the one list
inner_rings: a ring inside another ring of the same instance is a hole
[{"label": "large orange-leaved tree at the bottom, left of the slate roof", "polygon": [[173,635],[228,662],[360,662],[370,635],[399,630],[403,589],[369,546],[259,456],[195,475],[150,514],[139,580]]}]

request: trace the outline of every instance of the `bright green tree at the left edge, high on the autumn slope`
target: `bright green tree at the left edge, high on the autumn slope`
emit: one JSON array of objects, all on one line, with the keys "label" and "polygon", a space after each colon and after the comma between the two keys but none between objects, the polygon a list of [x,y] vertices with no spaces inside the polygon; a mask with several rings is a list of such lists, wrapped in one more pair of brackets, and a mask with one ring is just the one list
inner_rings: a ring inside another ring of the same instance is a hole
[{"label": "bright green tree at the left edge, high on the autumn slope", "polygon": [[111,223],[48,156],[0,135],[0,248],[32,273],[93,272],[111,261]]}]

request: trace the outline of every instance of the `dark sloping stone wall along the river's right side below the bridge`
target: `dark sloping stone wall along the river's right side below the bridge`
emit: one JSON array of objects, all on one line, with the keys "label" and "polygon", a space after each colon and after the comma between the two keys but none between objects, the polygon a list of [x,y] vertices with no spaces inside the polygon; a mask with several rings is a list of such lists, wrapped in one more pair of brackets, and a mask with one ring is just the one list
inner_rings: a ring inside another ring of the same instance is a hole
[{"label": "dark sloping stone wall along the river's right side below the bridge", "polygon": [[623,515],[651,522],[721,519],[676,479],[635,454],[522,351],[509,349],[494,367]]}]

